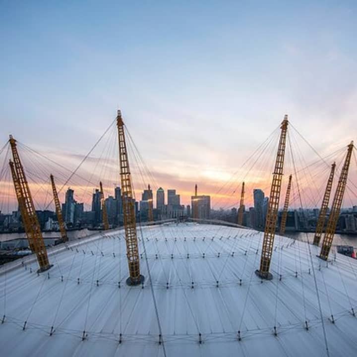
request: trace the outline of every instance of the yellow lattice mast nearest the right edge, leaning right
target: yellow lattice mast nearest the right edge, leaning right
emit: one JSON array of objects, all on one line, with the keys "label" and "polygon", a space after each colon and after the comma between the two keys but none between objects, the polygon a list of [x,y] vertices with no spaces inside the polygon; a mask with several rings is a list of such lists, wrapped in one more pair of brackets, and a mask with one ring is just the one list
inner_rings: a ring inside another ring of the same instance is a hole
[{"label": "yellow lattice mast nearest the right edge, leaning right", "polygon": [[325,236],[322,241],[322,246],[321,246],[321,251],[320,251],[319,257],[323,260],[327,260],[327,258],[328,258],[328,255],[329,255],[329,252],[330,252],[330,249],[332,246],[332,241],[333,241],[335,231],[336,231],[337,221],[340,217],[341,205],[342,205],[343,196],[345,193],[346,182],[347,182],[348,172],[349,172],[349,168],[350,168],[350,162],[351,162],[353,148],[354,148],[354,142],[351,141],[350,145],[348,145],[345,163],[341,170],[341,175],[340,175],[340,179],[337,184],[335,197],[332,202],[330,217],[327,222]]}]

